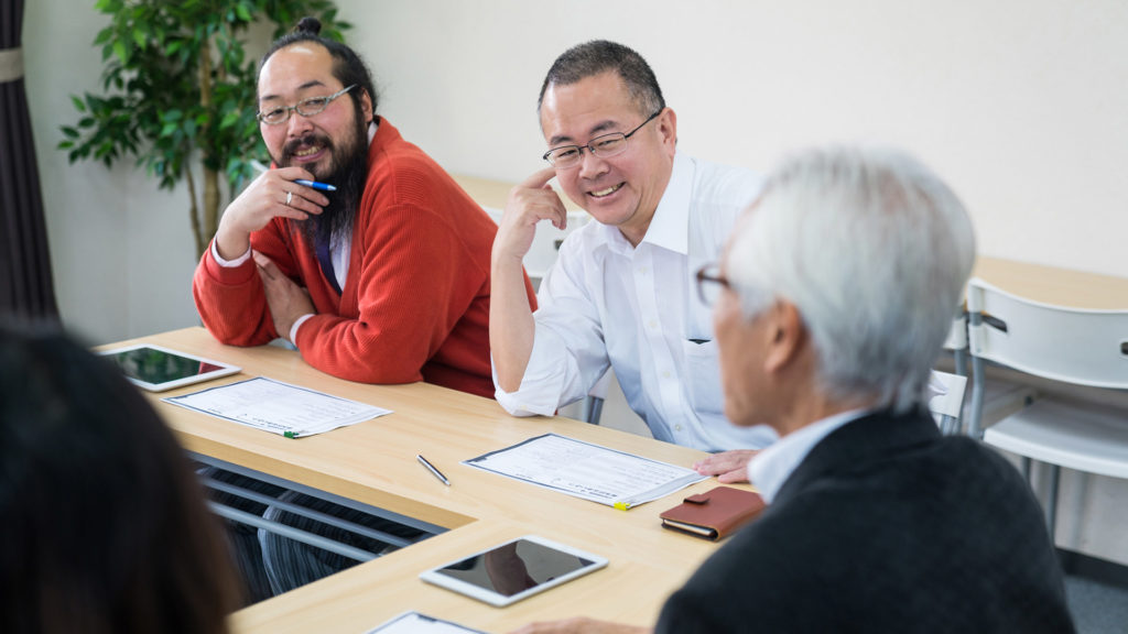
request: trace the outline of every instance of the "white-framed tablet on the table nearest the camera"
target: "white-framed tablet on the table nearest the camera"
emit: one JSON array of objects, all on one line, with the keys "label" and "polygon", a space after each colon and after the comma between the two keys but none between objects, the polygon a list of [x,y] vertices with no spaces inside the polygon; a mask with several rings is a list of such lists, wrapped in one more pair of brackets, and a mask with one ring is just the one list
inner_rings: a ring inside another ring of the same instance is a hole
[{"label": "white-framed tablet on the table nearest the camera", "polygon": [[599,555],[526,535],[431,569],[420,579],[504,607],[606,565]]}]

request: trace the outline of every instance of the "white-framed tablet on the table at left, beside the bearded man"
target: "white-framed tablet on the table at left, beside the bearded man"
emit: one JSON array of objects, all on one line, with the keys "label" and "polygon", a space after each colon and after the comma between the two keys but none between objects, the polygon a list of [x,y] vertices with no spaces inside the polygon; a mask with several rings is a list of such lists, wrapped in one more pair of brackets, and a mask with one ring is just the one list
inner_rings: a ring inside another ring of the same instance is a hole
[{"label": "white-framed tablet on the table at left, beside the bearded man", "polygon": [[233,375],[240,370],[230,363],[212,361],[151,343],[141,343],[99,354],[108,356],[125,378],[150,391],[197,384]]}]

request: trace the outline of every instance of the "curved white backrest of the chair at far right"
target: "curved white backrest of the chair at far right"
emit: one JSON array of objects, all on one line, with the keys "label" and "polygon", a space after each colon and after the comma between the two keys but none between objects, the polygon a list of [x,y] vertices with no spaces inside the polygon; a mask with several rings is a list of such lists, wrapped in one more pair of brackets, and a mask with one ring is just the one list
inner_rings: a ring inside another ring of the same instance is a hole
[{"label": "curved white backrest of the chair at far right", "polygon": [[1128,388],[1128,310],[1065,308],[968,282],[971,355],[1036,377]]}]

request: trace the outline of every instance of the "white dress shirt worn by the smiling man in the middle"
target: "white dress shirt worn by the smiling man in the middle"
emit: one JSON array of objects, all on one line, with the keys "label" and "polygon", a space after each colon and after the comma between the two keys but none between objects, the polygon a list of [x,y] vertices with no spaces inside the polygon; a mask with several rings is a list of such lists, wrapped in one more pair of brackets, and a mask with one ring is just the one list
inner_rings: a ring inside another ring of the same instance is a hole
[{"label": "white dress shirt worn by the smiling man in the middle", "polygon": [[658,440],[707,451],[775,440],[770,428],[740,429],[724,417],[712,310],[695,279],[720,257],[760,184],[751,171],[678,153],[637,247],[599,222],[572,232],[540,284],[521,386],[497,388],[497,402],[515,415],[550,416],[583,398],[610,366]]}]

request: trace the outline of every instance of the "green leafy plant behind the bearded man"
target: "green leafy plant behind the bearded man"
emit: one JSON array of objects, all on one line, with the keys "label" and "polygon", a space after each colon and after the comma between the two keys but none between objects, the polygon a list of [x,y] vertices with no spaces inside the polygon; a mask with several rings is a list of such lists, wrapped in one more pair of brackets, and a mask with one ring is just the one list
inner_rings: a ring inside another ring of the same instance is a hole
[{"label": "green leafy plant behind the bearded man", "polygon": [[220,176],[230,197],[253,176],[252,161],[267,158],[255,117],[257,60],[246,47],[265,52],[271,25],[273,39],[303,16],[338,41],[351,25],[331,0],[98,0],[96,9],[111,16],[94,41],[104,94],[71,96],[80,118],[62,126],[59,148],[71,162],[106,167],[135,157],[161,188],[184,179],[202,254],[219,224]]}]

